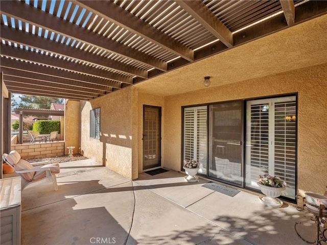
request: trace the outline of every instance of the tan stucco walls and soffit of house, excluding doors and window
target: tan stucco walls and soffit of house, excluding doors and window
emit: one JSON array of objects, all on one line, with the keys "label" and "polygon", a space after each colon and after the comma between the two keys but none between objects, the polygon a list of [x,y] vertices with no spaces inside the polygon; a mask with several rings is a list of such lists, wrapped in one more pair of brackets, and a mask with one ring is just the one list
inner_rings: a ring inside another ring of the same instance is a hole
[{"label": "tan stucco walls and soffit of house, excluding doors and window", "polygon": [[[327,15],[231,48],[85,103],[84,155],[129,178],[143,161],[143,105],[162,108],[162,165],[180,170],[181,107],[298,93],[298,188],[326,185]],[[311,67],[310,67],[311,66]],[[212,84],[204,88],[204,76]],[[189,91],[189,92],[187,92]],[[89,110],[101,107],[101,139],[89,138]]]}]

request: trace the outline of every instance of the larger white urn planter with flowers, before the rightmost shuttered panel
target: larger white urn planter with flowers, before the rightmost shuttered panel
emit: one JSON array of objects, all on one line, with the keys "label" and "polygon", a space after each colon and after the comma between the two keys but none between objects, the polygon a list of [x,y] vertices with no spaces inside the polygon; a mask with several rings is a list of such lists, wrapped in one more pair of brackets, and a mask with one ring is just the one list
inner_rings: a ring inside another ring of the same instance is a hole
[{"label": "larger white urn planter with flowers, before the rightmost shuttered panel", "polygon": [[283,201],[277,199],[282,191],[286,189],[286,182],[281,180],[278,176],[259,175],[257,183],[261,188],[265,197],[259,197],[259,199],[267,206],[281,207]]}]

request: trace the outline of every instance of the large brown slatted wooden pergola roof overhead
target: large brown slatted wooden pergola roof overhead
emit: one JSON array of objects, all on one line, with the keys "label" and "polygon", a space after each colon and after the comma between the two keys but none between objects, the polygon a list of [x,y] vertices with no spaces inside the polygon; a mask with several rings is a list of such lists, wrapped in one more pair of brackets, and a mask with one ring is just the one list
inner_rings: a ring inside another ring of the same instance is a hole
[{"label": "large brown slatted wooden pergola roof overhead", "polygon": [[323,15],[327,2],[31,0],[0,11],[8,91],[89,101]]}]

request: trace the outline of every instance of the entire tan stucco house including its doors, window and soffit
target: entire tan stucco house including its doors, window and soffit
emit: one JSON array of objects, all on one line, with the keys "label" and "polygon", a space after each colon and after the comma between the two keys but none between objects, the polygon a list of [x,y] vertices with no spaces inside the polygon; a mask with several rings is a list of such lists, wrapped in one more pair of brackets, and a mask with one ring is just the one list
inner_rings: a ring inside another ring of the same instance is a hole
[{"label": "entire tan stucco house including its doors, window and soffit", "polygon": [[317,17],[90,102],[68,101],[65,119],[81,128],[66,131],[66,143],[131,179],[153,167],[179,171],[194,158],[204,177],[250,190],[260,191],[259,173],[280,176],[291,202],[321,192],[326,22]]}]

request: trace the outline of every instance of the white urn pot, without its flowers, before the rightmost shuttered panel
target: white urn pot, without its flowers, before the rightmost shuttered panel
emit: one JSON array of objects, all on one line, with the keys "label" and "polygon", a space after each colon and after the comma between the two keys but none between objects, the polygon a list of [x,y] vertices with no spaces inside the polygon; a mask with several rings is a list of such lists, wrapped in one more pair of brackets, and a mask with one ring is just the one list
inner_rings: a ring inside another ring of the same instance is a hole
[{"label": "white urn pot, without its flowers, before the rightmost shuttered panel", "polygon": [[282,191],[286,189],[285,187],[271,187],[260,183],[257,184],[260,186],[261,192],[266,195],[265,197],[259,197],[260,201],[270,207],[281,207],[283,205],[283,201],[277,197],[282,194]]}]

